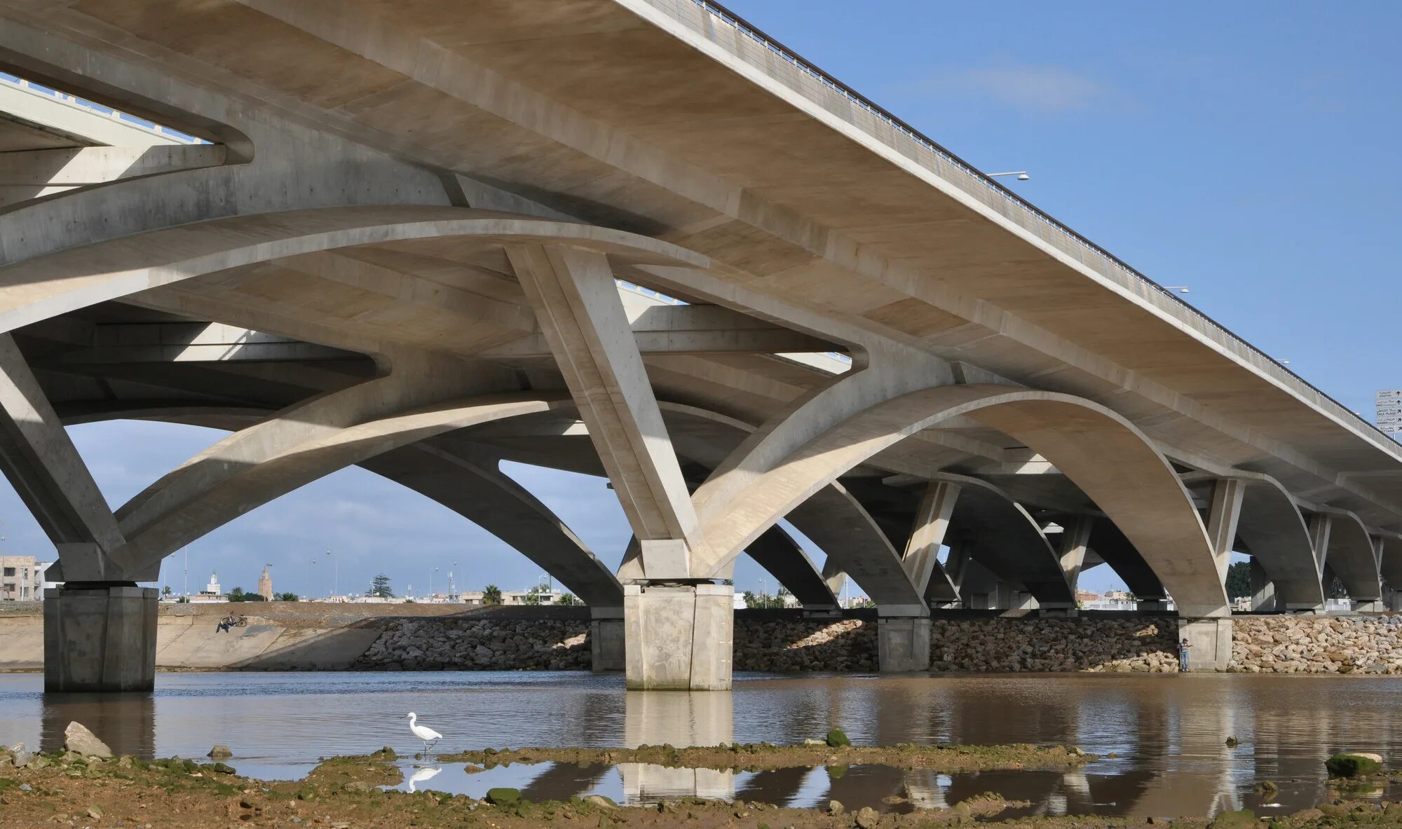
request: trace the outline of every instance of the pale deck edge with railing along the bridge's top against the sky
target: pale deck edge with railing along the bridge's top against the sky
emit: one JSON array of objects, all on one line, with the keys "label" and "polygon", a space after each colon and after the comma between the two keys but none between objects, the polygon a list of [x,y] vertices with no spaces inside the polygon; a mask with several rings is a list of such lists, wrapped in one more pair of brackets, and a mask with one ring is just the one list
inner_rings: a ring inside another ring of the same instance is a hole
[{"label": "pale deck edge with railing along the bridge's top against the sky", "polygon": [[[1367,427],[1368,431],[1378,434],[1392,444],[1402,444],[1402,441],[1395,440],[1388,433],[1378,429],[1375,424],[1370,423],[1364,417],[1354,413],[1352,409],[1333,399],[1322,389],[1300,377],[1283,363],[1266,354],[1256,346],[1252,346],[1241,336],[1235,335],[1227,326],[1221,325],[1216,319],[1207,316],[1193,305],[1187,304],[1176,294],[1158,284],[1152,279],[1144,276],[1109,251],[1105,251],[1091,239],[1075,232],[1070,227],[1061,224],[1052,216],[1043,213],[1036,206],[1033,206],[1026,199],[1018,196],[1008,188],[998,183],[995,179],[988,178],[981,171],[974,168],[972,164],[963,158],[955,155],[945,147],[937,144],[932,139],[927,137],[924,133],[910,126],[896,115],[892,115],[878,104],[872,102],[869,98],[858,92],[857,90],[848,87],[836,77],[827,74],[812,62],[806,60],[788,46],[780,43],[774,38],[765,35],[757,27],[746,21],[743,17],[735,14],[729,8],[721,6],[719,3],[712,3],[711,0],[648,0],[648,3],[663,13],[670,14],[677,22],[688,27],[697,34],[705,36],[708,41],[730,50],[742,60],[746,60],[757,67],[768,71],[775,80],[788,81],[789,78],[777,74],[775,69],[788,67],[794,70],[788,74],[795,74],[792,81],[809,81],[822,85],[823,97],[809,94],[808,90],[801,88],[798,83],[788,83],[788,85],[803,94],[810,101],[822,105],[829,112],[834,115],[841,115],[833,106],[829,105],[829,97],[837,97],[845,104],[855,108],[858,112],[871,115],[879,120],[886,127],[894,130],[896,133],[907,137],[913,141],[923,153],[906,153],[904,147],[897,146],[894,141],[886,140],[889,146],[901,151],[914,161],[923,164],[925,168],[934,171],[945,181],[953,183],[965,193],[974,196],[988,207],[993,207],[1005,218],[1019,224],[1023,230],[1033,232],[1042,241],[1054,245],[1061,252],[1077,259],[1082,265],[1092,267],[1102,276],[1120,283],[1131,290],[1150,290],[1158,294],[1161,298],[1168,298],[1172,301],[1169,311],[1175,311],[1176,316],[1187,318],[1185,322],[1196,322],[1206,326],[1209,330],[1206,333],[1216,335],[1217,337],[1224,337],[1227,343],[1239,346],[1248,351],[1252,357],[1252,364],[1258,368],[1274,371],[1283,378],[1288,378],[1308,388],[1311,392],[1318,395],[1316,403],[1325,407],[1323,403],[1328,402],[1333,409],[1335,415],[1342,416],[1345,420],[1353,420],[1359,424]],[[691,11],[700,10],[704,13],[702,17],[691,14]],[[723,29],[718,29],[716,24],[723,25]],[[743,38],[737,41],[735,35]],[[746,46],[751,46],[746,49]],[[778,59],[781,63],[774,66],[773,59]],[[858,125],[852,118],[852,112],[848,112],[848,122]],[[864,129],[868,134],[872,134],[880,140],[880,136],[871,129]]]}]

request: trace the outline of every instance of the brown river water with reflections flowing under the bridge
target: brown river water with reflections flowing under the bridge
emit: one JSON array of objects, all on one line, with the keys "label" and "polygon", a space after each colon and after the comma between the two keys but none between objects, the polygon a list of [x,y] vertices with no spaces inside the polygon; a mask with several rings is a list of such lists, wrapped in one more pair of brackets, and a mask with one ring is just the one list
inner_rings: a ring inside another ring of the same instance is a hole
[{"label": "brown river water with reflections flowing under the bridge", "polygon": [[[1402,756],[1402,679],[1199,675],[736,675],[733,692],[625,692],[618,675],[579,672],[158,674],[153,695],[45,696],[42,676],[0,675],[0,744],[57,748],[77,720],[114,751],[142,756],[234,752],[240,773],[293,779],[321,756],[390,745],[419,751],[402,720],[446,738],[435,752],[505,746],[795,744],[837,725],[859,745],[1056,742],[1109,755],[1084,772],[927,774],[883,766],[749,773],[655,766],[461,765],[405,760],[405,783],[529,797],[600,793],[646,802],[700,794],[787,805],[939,807],[997,791],[1036,814],[1192,816],[1225,808],[1287,814],[1328,798],[1338,751]],[[1238,745],[1228,748],[1227,737]],[[1391,763],[1389,763],[1391,765]],[[435,772],[433,769],[437,769]],[[418,780],[414,780],[418,777]],[[1267,800],[1252,788],[1280,787]],[[1398,791],[1381,793],[1399,798]],[[906,805],[883,804],[900,795]],[[1008,815],[1005,815],[1008,816]]]}]

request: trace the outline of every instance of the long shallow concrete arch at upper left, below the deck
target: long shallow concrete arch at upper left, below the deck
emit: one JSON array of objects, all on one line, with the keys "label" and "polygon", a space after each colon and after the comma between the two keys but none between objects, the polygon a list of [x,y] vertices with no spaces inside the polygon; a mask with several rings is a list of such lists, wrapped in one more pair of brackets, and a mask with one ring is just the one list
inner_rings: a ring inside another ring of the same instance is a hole
[{"label": "long shallow concrete arch at upper left, below the deck", "polygon": [[512,213],[421,206],[287,210],[153,230],[0,267],[0,332],[244,265],[444,237],[557,242],[624,255],[629,263],[711,266],[700,253],[649,237]]}]

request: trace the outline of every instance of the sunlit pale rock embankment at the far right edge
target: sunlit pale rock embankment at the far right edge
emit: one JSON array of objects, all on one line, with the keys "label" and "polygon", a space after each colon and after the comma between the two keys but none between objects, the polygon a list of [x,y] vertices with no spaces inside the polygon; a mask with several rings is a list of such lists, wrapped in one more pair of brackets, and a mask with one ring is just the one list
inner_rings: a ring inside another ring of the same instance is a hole
[{"label": "sunlit pale rock embankment at the far right edge", "polygon": [[1232,620],[1231,671],[1402,674],[1402,616],[1259,616]]}]

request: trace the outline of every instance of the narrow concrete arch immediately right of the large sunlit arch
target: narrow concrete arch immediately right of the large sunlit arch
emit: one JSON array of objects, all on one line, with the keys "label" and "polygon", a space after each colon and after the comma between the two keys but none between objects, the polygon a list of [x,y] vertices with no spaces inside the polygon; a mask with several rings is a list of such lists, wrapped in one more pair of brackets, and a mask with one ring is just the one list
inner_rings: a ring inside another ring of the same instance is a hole
[{"label": "narrow concrete arch immediately right of the large sunlit arch", "polygon": [[1252,475],[1244,480],[1246,487],[1237,534],[1266,571],[1286,608],[1322,608],[1323,562],[1314,549],[1309,528],[1294,499],[1267,475]]}]

